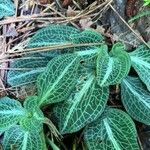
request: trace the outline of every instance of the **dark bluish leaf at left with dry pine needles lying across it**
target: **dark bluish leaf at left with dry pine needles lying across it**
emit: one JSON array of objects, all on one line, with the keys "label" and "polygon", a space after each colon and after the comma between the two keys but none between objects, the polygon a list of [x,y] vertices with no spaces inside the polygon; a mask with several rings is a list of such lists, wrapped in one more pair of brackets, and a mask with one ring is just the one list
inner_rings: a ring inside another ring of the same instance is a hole
[{"label": "dark bluish leaf at left with dry pine needles lying across it", "polygon": [[35,82],[37,76],[44,71],[50,59],[40,55],[31,55],[10,63],[7,82],[11,86],[20,86]]}]

